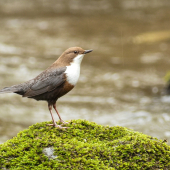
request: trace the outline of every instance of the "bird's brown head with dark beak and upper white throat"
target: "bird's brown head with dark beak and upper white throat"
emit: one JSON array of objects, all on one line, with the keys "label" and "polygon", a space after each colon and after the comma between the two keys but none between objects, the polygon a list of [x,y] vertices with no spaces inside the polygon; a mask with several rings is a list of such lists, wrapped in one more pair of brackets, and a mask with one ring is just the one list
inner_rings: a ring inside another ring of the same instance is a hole
[{"label": "bird's brown head with dark beak and upper white throat", "polygon": [[63,54],[55,61],[55,64],[60,66],[68,66],[72,62],[81,64],[81,61],[85,54],[92,52],[93,50],[84,50],[81,47],[68,48]]}]

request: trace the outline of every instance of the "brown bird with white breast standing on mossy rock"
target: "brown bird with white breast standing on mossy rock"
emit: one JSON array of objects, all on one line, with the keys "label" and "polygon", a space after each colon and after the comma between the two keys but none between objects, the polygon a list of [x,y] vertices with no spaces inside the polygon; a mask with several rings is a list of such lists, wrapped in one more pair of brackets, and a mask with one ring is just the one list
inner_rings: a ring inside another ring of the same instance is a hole
[{"label": "brown bird with white breast standing on mossy rock", "polygon": [[[22,97],[32,98],[37,101],[47,101],[53,122],[47,125],[59,129],[66,128],[63,127],[63,125],[67,124],[67,122],[62,120],[56,108],[56,102],[60,97],[67,94],[75,87],[80,76],[80,66],[83,57],[92,51],[93,50],[84,50],[81,47],[70,47],[65,50],[50,67],[38,76],[18,85],[4,87],[0,90],[0,94],[16,93],[22,95]],[[56,124],[52,113],[52,107],[56,111],[62,123],[61,125]]]}]

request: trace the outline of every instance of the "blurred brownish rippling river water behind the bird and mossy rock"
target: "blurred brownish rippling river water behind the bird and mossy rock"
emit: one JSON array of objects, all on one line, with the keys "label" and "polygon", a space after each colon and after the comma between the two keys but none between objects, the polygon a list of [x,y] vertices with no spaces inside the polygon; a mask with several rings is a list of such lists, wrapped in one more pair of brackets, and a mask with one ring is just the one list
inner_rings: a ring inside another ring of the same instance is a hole
[{"label": "blurred brownish rippling river water behind the bird and mossy rock", "polygon": [[[59,99],[64,120],[87,119],[170,139],[168,0],[0,1],[0,87],[27,81],[71,46],[93,49],[76,87]],[[47,104],[0,95],[0,142],[51,120]],[[55,114],[55,119],[58,120]]]}]

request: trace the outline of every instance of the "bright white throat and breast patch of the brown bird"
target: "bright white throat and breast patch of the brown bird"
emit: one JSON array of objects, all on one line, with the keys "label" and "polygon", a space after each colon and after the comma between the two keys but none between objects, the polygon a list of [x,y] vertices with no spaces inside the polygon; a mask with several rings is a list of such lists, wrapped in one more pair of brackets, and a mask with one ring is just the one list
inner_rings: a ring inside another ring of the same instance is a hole
[{"label": "bright white throat and breast patch of the brown bird", "polygon": [[84,57],[84,54],[79,54],[77,57],[73,59],[73,62],[69,65],[66,66],[67,69],[65,71],[66,76],[67,76],[67,81],[72,84],[73,86],[76,85],[79,76],[80,76],[80,65],[81,61]]}]

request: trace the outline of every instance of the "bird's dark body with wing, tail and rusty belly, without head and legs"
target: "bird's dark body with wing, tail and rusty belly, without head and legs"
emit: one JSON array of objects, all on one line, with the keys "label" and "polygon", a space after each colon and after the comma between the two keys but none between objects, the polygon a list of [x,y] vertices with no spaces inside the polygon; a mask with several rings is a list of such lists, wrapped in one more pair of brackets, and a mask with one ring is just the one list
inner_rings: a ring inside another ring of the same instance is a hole
[{"label": "bird's dark body with wing, tail and rusty belly, without head and legs", "polygon": [[34,79],[22,84],[5,87],[0,93],[13,92],[36,100],[57,100],[74,87],[66,83],[65,70],[66,67],[50,67]]}]

